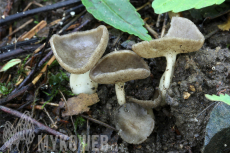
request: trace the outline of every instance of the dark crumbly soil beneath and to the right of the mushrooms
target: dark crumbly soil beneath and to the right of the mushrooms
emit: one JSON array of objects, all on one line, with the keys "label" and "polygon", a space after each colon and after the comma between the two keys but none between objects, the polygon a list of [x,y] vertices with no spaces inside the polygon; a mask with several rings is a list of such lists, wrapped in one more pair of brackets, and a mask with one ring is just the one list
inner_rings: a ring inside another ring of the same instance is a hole
[{"label": "dark crumbly soil beneath and to the right of the mushrooms", "polygon": [[[151,16],[152,10],[147,8],[141,12],[143,17]],[[157,16],[153,18],[156,20]],[[191,19],[192,20],[192,19]],[[155,22],[153,19],[149,22]],[[98,21],[94,20],[82,30],[95,28]],[[203,25],[201,31],[204,35],[209,34],[222,21],[211,20]],[[197,22],[199,26],[201,22]],[[160,30],[155,29],[155,30]],[[127,33],[123,33],[119,41],[113,45],[114,40],[121,34],[119,30],[110,29],[110,41],[105,54],[117,50],[130,49],[130,45],[121,45],[128,38]],[[111,136],[109,142],[118,143],[119,153],[199,153],[202,150],[206,124],[213,102],[207,100],[204,94],[217,94],[218,92],[229,91],[230,83],[230,51],[226,45],[230,42],[229,32],[219,31],[207,40],[197,52],[190,54],[180,54],[177,56],[174,77],[166,96],[167,105],[154,109],[156,126],[153,133],[146,141],[139,145],[132,145],[124,142],[117,136],[116,132],[105,127],[89,122],[90,135],[107,134]],[[132,37],[132,42],[140,42],[137,37]],[[145,59],[151,69],[150,77],[143,80],[132,80],[126,83],[125,92],[127,96],[137,99],[149,100],[153,98],[154,91],[158,88],[159,80],[165,70],[165,58]],[[60,67],[56,68],[57,70]],[[53,71],[56,71],[53,70]],[[69,86],[67,86],[69,88]],[[98,96],[100,102],[91,106],[90,112],[94,119],[104,122],[114,127],[114,113],[119,107],[116,100],[114,85],[99,85]],[[185,94],[190,95],[185,98]],[[41,96],[42,94],[40,94]],[[44,94],[43,94],[44,95]],[[44,98],[44,97],[40,97]],[[60,97],[54,99],[60,101]],[[54,118],[56,114],[52,113]],[[13,117],[1,113],[0,125],[6,121],[13,121]],[[39,112],[38,119],[49,122],[44,117],[43,112]],[[69,118],[63,118],[63,120]],[[49,124],[49,123],[48,123]],[[87,124],[78,126],[78,133],[86,132]],[[68,129],[68,130],[67,130]],[[2,131],[2,130],[1,130]],[[72,124],[69,123],[60,130],[63,133],[74,133]],[[69,132],[71,131],[71,132]],[[2,137],[2,134],[0,134]],[[2,139],[0,139],[2,145]]]}]

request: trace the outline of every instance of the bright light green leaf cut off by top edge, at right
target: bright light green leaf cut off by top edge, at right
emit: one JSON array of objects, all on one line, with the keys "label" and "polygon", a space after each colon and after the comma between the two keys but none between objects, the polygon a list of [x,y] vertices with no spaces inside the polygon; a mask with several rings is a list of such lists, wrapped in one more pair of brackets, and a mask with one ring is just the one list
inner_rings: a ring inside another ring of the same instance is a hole
[{"label": "bright light green leaf cut off by top edge, at right", "polygon": [[181,12],[192,8],[200,9],[214,4],[221,4],[225,0],[154,0],[152,7],[157,14],[165,12]]}]

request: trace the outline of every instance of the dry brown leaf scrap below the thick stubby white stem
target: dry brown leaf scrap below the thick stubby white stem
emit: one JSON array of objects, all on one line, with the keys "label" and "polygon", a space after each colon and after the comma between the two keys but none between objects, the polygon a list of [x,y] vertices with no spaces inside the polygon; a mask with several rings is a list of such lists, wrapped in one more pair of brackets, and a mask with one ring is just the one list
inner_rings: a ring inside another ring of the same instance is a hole
[{"label": "dry brown leaf scrap below the thick stubby white stem", "polygon": [[[69,98],[67,101],[66,111],[62,113],[62,116],[78,115],[83,112],[89,111],[89,107],[99,102],[98,95],[81,93],[77,97]],[[69,108],[69,110],[68,110]]]}]

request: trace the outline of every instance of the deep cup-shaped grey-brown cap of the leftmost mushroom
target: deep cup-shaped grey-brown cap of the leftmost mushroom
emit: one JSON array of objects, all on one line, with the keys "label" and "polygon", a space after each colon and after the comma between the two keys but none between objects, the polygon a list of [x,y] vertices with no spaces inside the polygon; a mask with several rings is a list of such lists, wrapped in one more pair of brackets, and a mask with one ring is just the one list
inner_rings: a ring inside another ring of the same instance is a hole
[{"label": "deep cup-shaped grey-brown cap of the leftmost mushroom", "polygon": [[103,55],[109,39],[105,26],[74,32],[63,36],[53,35],[51,48],[59,64],[68,72],[82,74],[92,69]]}]

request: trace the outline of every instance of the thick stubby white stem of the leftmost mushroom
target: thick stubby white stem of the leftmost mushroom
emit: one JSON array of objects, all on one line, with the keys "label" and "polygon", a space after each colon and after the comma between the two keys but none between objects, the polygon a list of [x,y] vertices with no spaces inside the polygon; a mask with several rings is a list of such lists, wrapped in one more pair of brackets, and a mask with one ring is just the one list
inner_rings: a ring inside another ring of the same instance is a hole
[{"label": "thick stubby white stem of the leftmost mushroom", "polygon": [[97,91],[98,83],[90,79],[89,71],[84,74],[71,73],[69,81],[74,94],[93,94]]}]

